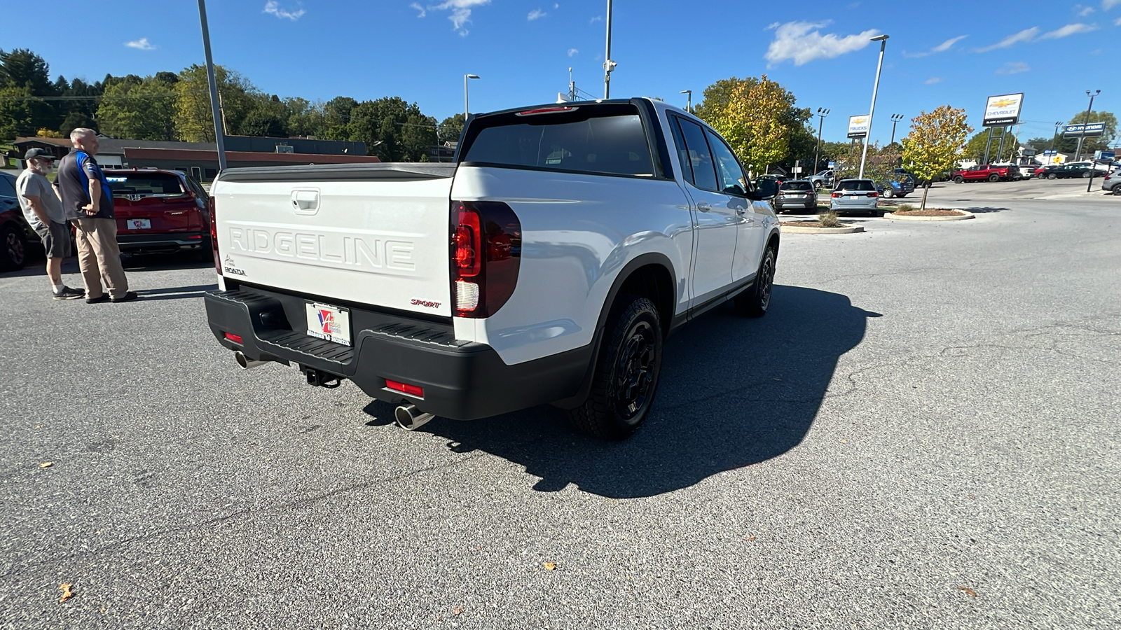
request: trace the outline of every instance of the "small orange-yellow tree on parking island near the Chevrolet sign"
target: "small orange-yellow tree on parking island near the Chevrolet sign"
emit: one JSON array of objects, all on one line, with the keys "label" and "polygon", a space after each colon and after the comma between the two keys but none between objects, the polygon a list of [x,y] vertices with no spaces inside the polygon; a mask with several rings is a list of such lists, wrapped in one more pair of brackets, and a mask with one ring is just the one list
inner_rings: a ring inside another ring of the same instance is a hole
[{"label": "small orange-yellow tree on parking island near the Chevrolet sign", "polygon": [[904,168],[926,180],[919,210],[926,210],[926,195],[934,178],[961,160],[965,140],[972,131],[965,122],[965,110],[949,105],[911,119],[911,131],[902,140]]}]

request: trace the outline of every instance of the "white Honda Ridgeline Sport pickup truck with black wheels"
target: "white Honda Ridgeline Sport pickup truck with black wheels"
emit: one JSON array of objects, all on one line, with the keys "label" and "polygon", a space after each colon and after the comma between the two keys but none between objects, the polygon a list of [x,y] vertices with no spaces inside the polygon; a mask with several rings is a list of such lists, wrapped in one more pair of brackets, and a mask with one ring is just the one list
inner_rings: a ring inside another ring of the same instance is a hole
[{"label": "white Honda Ridgeline Sport pickup truck with black wheels", "polygon": [[406,428],[550,402],[621,439],[670,331],[767,312],[779,245],[773,183],[648,99],[475,115],[455,164],[234,168],[211,194],[219,343]]}]

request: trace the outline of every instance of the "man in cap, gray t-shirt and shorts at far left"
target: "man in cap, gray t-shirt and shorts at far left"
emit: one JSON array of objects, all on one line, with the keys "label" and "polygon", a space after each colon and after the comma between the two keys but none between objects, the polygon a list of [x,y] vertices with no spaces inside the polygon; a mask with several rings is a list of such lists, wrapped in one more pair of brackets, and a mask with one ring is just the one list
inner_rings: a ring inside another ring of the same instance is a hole
[{"label": "man in cap, gray t-shirt and shorts at far left", "polygon": [[27,160],[27,169],[16,178],[16,196],[27,223],[43,239],[43,249],[47,252],[47,277],[50,278],[54,297],[85,297],[85,291],[63,284],[63,258],[70,253],[71,238],[63,204],[46,177],[55,158],[43,149],[30,149],[24,159]]}]

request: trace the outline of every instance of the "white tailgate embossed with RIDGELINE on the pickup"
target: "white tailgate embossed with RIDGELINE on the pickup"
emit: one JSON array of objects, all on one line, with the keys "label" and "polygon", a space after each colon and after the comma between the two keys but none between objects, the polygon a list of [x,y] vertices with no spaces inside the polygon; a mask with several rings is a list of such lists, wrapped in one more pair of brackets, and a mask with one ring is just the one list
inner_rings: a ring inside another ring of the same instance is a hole
[{"label": "white tailgate embossed with RIDGELINE on the pickup", "polygon": [[230,169],[214,183],[223,274],[356,303],[451,316],[454,165]]}]

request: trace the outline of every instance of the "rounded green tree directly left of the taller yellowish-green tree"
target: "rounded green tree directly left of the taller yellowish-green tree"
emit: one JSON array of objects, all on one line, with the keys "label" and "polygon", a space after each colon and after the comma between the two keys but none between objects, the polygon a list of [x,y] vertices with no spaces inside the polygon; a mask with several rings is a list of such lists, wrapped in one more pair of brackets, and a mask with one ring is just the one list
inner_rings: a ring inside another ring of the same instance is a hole
[{"label": "rounded green tree directly left of the taller yellowish-green tree", "polygon": [[175,101],[173,84],[152,76],[113,82],[98,108],[101,132],[130,140],[174,140]]}]

